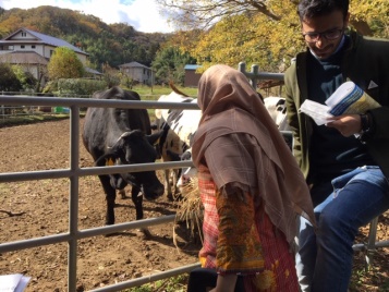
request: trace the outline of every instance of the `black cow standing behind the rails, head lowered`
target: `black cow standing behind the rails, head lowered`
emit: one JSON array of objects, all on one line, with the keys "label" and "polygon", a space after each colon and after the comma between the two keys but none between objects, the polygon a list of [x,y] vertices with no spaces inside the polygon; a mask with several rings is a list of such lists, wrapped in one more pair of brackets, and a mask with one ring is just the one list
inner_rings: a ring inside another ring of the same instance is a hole
[{"label": "black cow standing behind the rails, head lowered", "polygon": [[[135,92],[112,87],[97,92],[92,98],[141,100]],[[85,115],[83,143],[96,166],[155,162],[153,144],[160,133],[150,135],[150,120],[145,109],[88,108]],[[155,199],[163,194],[163,185],[155,171],[99,175],[107,199],[106,224],[114,223],[116,190],[132,185],[136,219],[143,218],[143,196]],[[124,193],[125,194],[125,193]]]}]

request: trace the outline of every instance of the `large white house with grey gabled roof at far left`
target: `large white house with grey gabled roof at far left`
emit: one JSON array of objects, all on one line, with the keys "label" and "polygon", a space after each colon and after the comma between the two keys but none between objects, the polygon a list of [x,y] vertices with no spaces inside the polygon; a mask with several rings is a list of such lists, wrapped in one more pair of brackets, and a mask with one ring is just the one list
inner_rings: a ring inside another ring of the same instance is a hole
[{"label": "large white house with grey gabled roof at far left", "polygon": [[[44,35],[27,28],[20,28],[0,40],[0,62],[22,65],[34,77],[40,80],[40,74],[47,69],[53,51],[57,47],[72,49],[85,65],[88,53],[68,41]],[[85,68],[87,72],[88,69]],[[94,74],[100,74],[94,71]]]}]

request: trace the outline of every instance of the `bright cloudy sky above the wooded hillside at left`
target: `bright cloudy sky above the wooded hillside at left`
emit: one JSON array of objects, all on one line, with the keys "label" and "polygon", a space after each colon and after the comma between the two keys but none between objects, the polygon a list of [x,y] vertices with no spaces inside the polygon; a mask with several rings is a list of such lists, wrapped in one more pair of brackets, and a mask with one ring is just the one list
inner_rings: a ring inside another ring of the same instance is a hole
[{"label": "bright cloudy sky above the wooded hillside at left", "polygon": [[0,7],[31,9],[41,5],[80,11],[107,24],[126,23],[142,33],[171,33],[167,17],[158,12],[154,0],[0,0]]}]

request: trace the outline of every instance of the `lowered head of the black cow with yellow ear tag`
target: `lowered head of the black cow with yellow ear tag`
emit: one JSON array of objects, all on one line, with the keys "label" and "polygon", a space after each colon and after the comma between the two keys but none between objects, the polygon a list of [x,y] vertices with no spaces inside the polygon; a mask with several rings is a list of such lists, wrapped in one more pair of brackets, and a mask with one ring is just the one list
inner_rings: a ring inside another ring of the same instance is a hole
[{"label": "lowered head of the black cow with yellow ear tag", "polygon": [[[157,158],[154,144],[161,133],[145,135],[141,130],[124,132],[118,141],[99,157],[95,165],[106,166],[107,161],[114,165],[151,163]],[[155,199],[163,194],[163,185],[159,182],[155,171],[121,173],[130,184],[141,187],[147,199]]]}]

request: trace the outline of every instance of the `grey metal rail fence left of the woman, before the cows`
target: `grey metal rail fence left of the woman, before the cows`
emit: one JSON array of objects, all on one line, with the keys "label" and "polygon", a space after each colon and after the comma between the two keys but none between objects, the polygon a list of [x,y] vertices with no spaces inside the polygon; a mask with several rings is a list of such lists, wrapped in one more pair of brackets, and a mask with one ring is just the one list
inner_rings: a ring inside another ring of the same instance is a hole
[{"label": "grey metal rail fence left of the woman, before the cows", "polygon": [[[45,171],[28,171],[28,172],[11,172],[0,173],[0,183],[20,182],[45,179],[69,179],[69,231],[54,235],[22,240],[16,242],[7,242],[0,244],[0,253],[20,251],[24,248],[37,247],[48,244],[57,244],[68,242],[68,290],[76,291],[76,259],[77,259],[77,241],[85,238],[104,235],[108,233],[119,232],[129,229],[138,229],[156,224],[162,224],[174,221],[175,216],[162,216],[159,218],[150,218],[114,226],[107,226],[94,229],[78,229],[78,179],[86,175],[113,174],[118,172],[138,172],[148,170],[160,170],[165,168],[182,168],[193,166],[192,161],[178,162],[159,162],[159,163],[143,163],[131,166],[114,166],[114,167],[94,167],[80,168],[80,108],[85,107],[102,107],[102,108],[136,108],[136,109],[198,109],[195,104],[177,104],[177,102],[159,102],[159,101],[123,101],[123,100],[98,100],[84,98],[58,98],[58,97],[17,97],[17,96],[0,96],[0,105],[7,106],[50,106],[50,107],[69,107],[70,110],[70,168],[56,169]],[[124,281],[114,285],[104,287],[95,291],[119,291],[126,288],[138,287],[147,282],[159,279],[169,278],[175,275],[191,271],[198,267],[195,263],[184,267],[167,270],[156,275],[137,278],[130,281]]]}]

